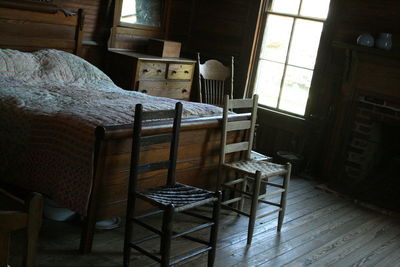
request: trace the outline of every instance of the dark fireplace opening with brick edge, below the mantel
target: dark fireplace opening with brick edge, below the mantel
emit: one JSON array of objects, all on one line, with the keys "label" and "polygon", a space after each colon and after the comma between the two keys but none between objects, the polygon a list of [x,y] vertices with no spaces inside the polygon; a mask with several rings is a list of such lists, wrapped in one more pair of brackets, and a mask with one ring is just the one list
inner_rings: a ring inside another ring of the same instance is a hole
[{"label": "dark fireplace opening with brick edge, below the mantel", "polygon": [[400,104],[359,97],[344,163],[348,193],[400,211]]}]

